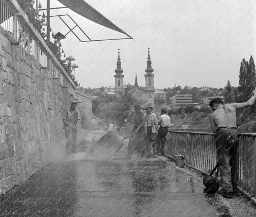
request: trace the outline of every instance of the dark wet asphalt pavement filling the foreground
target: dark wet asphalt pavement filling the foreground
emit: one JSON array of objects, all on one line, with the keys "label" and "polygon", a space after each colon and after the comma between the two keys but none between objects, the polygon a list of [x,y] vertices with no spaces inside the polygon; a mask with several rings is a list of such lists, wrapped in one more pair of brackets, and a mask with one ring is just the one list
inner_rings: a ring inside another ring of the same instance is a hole
[{"label": "dark wet asphalt pavement filling the foreground", "polygon": [[213,201],[197,179],[160,159],[81,155],[46,166],[7,193],[0,216],[219,216]]}]

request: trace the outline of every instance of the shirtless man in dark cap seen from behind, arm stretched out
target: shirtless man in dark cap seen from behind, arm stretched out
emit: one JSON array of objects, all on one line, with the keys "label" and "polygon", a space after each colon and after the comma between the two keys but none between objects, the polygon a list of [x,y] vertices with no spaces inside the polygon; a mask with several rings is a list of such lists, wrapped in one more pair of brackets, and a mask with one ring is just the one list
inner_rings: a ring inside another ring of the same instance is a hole
[{"label": "shirtless man in dark cap seen from behind, arm stretched out", "polygon": [[240,196],[236,190],[238,181],[238,131],[236,127],[236,108],[246,108],[254,104],[256,91],[244,103],[227,103],[223,105],[221,98],[214,98],[209,105],[214,112],[210,115],[212,131],[216,139],[217,161],[222,189],[217,193],[226,198]]}]

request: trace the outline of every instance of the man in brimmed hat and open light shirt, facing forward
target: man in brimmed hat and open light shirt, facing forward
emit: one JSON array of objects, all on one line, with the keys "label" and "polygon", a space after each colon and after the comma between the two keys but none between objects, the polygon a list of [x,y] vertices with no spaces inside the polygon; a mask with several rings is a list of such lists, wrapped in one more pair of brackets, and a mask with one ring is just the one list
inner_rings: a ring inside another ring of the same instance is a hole
[{"label": "man in brimmed hat and open light shirt, facing forward", "polygon": [[146,136],[146,155],[147,157],[151,157],[150,143],[152,143],[154,157],[157,157],[155,138],[157,137],[158,120],[156,115],[152,112],[153,107],[151,104],[146,105],[145,110],[144,134]]}]

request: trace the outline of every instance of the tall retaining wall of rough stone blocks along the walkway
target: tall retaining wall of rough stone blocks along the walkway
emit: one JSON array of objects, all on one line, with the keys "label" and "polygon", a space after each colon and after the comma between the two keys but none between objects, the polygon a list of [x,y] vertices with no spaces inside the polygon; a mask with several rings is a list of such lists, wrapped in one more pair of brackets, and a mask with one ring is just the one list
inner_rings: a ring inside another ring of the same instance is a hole
[{"label": "tall retaining wall of rough stone blocks along the walkway", "polygon": [[0,193],[5,193],[64,153],[62,112],[71,96],[0,31]]}]

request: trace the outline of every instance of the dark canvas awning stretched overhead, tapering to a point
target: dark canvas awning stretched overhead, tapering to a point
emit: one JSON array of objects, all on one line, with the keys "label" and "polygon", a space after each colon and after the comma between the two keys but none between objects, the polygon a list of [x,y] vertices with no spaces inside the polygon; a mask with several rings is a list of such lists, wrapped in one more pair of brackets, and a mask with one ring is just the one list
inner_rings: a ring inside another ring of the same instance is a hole
[{"label": "dark canvas awning stretched overhead, tapering to a point", "polygon": [[87,18],[88,20],[91,20],[97,24],[100,24],[104,27],[107,27],[109,29],[115,30],[119,33],[126,34],[128,37],[132,38],[130,35],[128,35],[126,32],[124,32],[122,29],[117,27],[117,25],[113,24],[108,18],[103,16],[99,11],[97,11],[95,8],[93,8],[91,5],[89,5],[84,0],[58,0],[61,4],[65,5],[75,13],[80,14],[81,16]]}]

